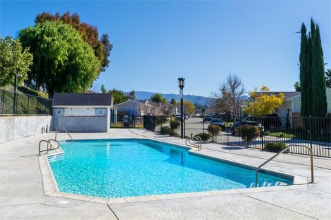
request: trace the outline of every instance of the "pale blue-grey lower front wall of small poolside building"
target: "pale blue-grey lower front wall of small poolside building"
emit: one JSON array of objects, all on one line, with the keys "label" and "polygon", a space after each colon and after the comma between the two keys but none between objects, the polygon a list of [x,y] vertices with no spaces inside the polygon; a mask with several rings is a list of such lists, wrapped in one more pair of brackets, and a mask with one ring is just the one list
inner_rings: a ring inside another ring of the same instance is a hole
[{"label": "pale blue-grey lower front wall of small poolside building", "polygon": [[105,116],[58,116],[54,128],[64,126],[68,132],[107,132],[109,118]]}]

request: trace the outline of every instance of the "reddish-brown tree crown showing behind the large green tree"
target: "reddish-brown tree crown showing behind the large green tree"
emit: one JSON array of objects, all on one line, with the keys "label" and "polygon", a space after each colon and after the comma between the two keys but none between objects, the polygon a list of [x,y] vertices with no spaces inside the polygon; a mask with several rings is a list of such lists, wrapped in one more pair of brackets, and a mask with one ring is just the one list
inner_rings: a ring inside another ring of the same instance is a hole
[{"label": "reddish-brown tree crown showing behind the large green tree", "polygon": [[71,25],[79,31],[83,37],[83,40],[93,48],[95,56],[97,56],[101,62],[101,72],[105,71],[106,67],[108,67],[108,57],[110,56],[110,51],[112,50],[112,44],[109,42],[108,34],[103,34],[99,39],[97,27],[89,25],[85,22],[81,23],[77,13],[70,15],[70,12],[66,12],[60,16],[59,13],[52,15],[48,12],[42,12],[37,15],[34,21],[35,23],[42,23],[45,21],[62,21],[63,23]]}]

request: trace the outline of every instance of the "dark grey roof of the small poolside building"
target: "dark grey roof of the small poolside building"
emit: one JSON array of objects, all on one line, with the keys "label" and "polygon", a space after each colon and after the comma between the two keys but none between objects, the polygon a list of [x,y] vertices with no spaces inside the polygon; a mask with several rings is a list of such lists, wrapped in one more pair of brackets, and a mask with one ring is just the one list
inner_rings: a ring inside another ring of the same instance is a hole
[{"label": "dark grey roof of the small poolside building", "polygon": [[112,106],[112,94],[54,94],[53,106]]}]

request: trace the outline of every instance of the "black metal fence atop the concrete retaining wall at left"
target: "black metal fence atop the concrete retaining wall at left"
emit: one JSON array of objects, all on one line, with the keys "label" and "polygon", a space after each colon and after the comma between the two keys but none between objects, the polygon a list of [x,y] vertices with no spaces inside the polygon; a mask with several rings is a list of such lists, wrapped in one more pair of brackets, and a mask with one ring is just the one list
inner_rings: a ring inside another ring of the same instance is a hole
[{"label": "black metal fence atop the concrete retaining wall at left", "polygon": [[0,115],[50,115],[52,100],[0,89]]}]

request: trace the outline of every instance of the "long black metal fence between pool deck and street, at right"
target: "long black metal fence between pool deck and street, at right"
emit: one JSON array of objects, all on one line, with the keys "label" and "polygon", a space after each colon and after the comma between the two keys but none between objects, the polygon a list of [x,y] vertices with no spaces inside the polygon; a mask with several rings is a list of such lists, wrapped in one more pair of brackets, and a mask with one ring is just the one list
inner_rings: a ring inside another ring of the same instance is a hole
[{"label": "long black metal fence between pool deck and street, at right", "polygon": [[[159,118],[159,119],[158,119]],[[162,123],[161,123],[161,119]],[[164,126],[170,126],[170,121],[176,120],[173,116],[144,116],[145,129],[160,132]],[[159,123],[158,123],[159,122]],[[227,146],[248,146],[262,151],[269,150],[268,143],[298,144],[310,146],[315,156],[331,157],[331,118],[313,117],[265,117],[265,118],[233,118],[223,117],[210,120],[203,118],[188,118],[184,120],[184,136],[190,137],[199,133],[208,133],[210,124],[218,124],[220,133],[214,142]],[[247,143],[239,135],[239,127],[248,124],[259,127],[259,136]],[[180,135],[181,128],[174,131]],[[309,154],[305,148],[291,148],[291,153]]]}]

